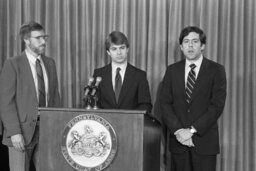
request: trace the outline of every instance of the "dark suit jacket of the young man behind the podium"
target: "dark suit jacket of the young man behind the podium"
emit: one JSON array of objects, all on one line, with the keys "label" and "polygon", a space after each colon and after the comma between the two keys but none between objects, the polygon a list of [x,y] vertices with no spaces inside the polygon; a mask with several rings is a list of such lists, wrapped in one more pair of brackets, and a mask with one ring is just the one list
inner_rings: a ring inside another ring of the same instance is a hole
[{"label": "dark suit jacket of the young man behind the podium", "polygon": [[102,77],[99,85],[99,103],[104,109],[137,109],[151,112],[152,104],[146,72],[128,64],[119,101],[115,100],[111,64],[95,69],[93,76]]}]

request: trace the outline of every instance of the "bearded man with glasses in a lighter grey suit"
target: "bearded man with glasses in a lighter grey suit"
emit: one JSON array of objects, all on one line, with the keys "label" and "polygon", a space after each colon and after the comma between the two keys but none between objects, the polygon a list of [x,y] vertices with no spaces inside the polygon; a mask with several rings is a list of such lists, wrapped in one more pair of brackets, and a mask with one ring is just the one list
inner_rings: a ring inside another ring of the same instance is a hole
[{"label": "bearded man with glasses in a lighter grey suit", "polygon": [[60,105],[55,62],[44,55],[44,28],[31,21],[22,25],[20,36],[25,50],[5,61],[0,76],[3,144],[8,146],[11,171],[28,171],[30,160],[38,170],[37,108]]}]

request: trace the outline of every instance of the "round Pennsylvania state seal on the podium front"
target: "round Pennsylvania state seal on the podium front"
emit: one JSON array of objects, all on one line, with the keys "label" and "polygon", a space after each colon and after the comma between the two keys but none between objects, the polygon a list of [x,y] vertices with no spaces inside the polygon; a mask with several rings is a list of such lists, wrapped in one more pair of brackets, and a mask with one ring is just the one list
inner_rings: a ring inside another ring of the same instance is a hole
[{"label": "round Pennsylvania state seal on the podium front", "polygon": [[101,171],[116,155],[117,137],[107,120],[98,115],[83,114],[65,126],[61,151],[76,170]]}]

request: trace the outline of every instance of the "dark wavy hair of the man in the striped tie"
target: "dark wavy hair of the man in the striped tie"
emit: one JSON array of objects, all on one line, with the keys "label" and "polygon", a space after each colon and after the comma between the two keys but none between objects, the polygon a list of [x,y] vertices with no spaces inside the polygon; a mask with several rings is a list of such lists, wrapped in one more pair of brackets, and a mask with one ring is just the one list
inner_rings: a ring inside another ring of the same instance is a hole
[{"label": "dark wavy hair of the man in the striped tie", "polygon": [[196,27],[196,26],[187,26],[187,27],[183,28],[183,30],[180,33],[180,38],[179,38],[180,45],[182,44],[184,37],[189,35],[189,33],[191,33],[191,32],[198,33],[201,43],[206,44],[206,35],[202,29],[200,29],[199,27]]}]

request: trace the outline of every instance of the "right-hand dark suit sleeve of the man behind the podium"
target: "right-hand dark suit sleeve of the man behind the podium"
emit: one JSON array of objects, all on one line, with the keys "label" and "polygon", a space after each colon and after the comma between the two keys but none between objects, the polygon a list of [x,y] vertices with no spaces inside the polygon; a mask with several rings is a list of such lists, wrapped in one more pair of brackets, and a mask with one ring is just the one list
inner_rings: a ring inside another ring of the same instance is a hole
[{"label": "right-hand dark suit sleeve of the man behind the podium", "polygon": [[136,108],[139,110],[146,110],[148,113],[150,113],[152,110],[149,84],[145,72],[143,72],[142,78],[139,82],[138,104]]}]

